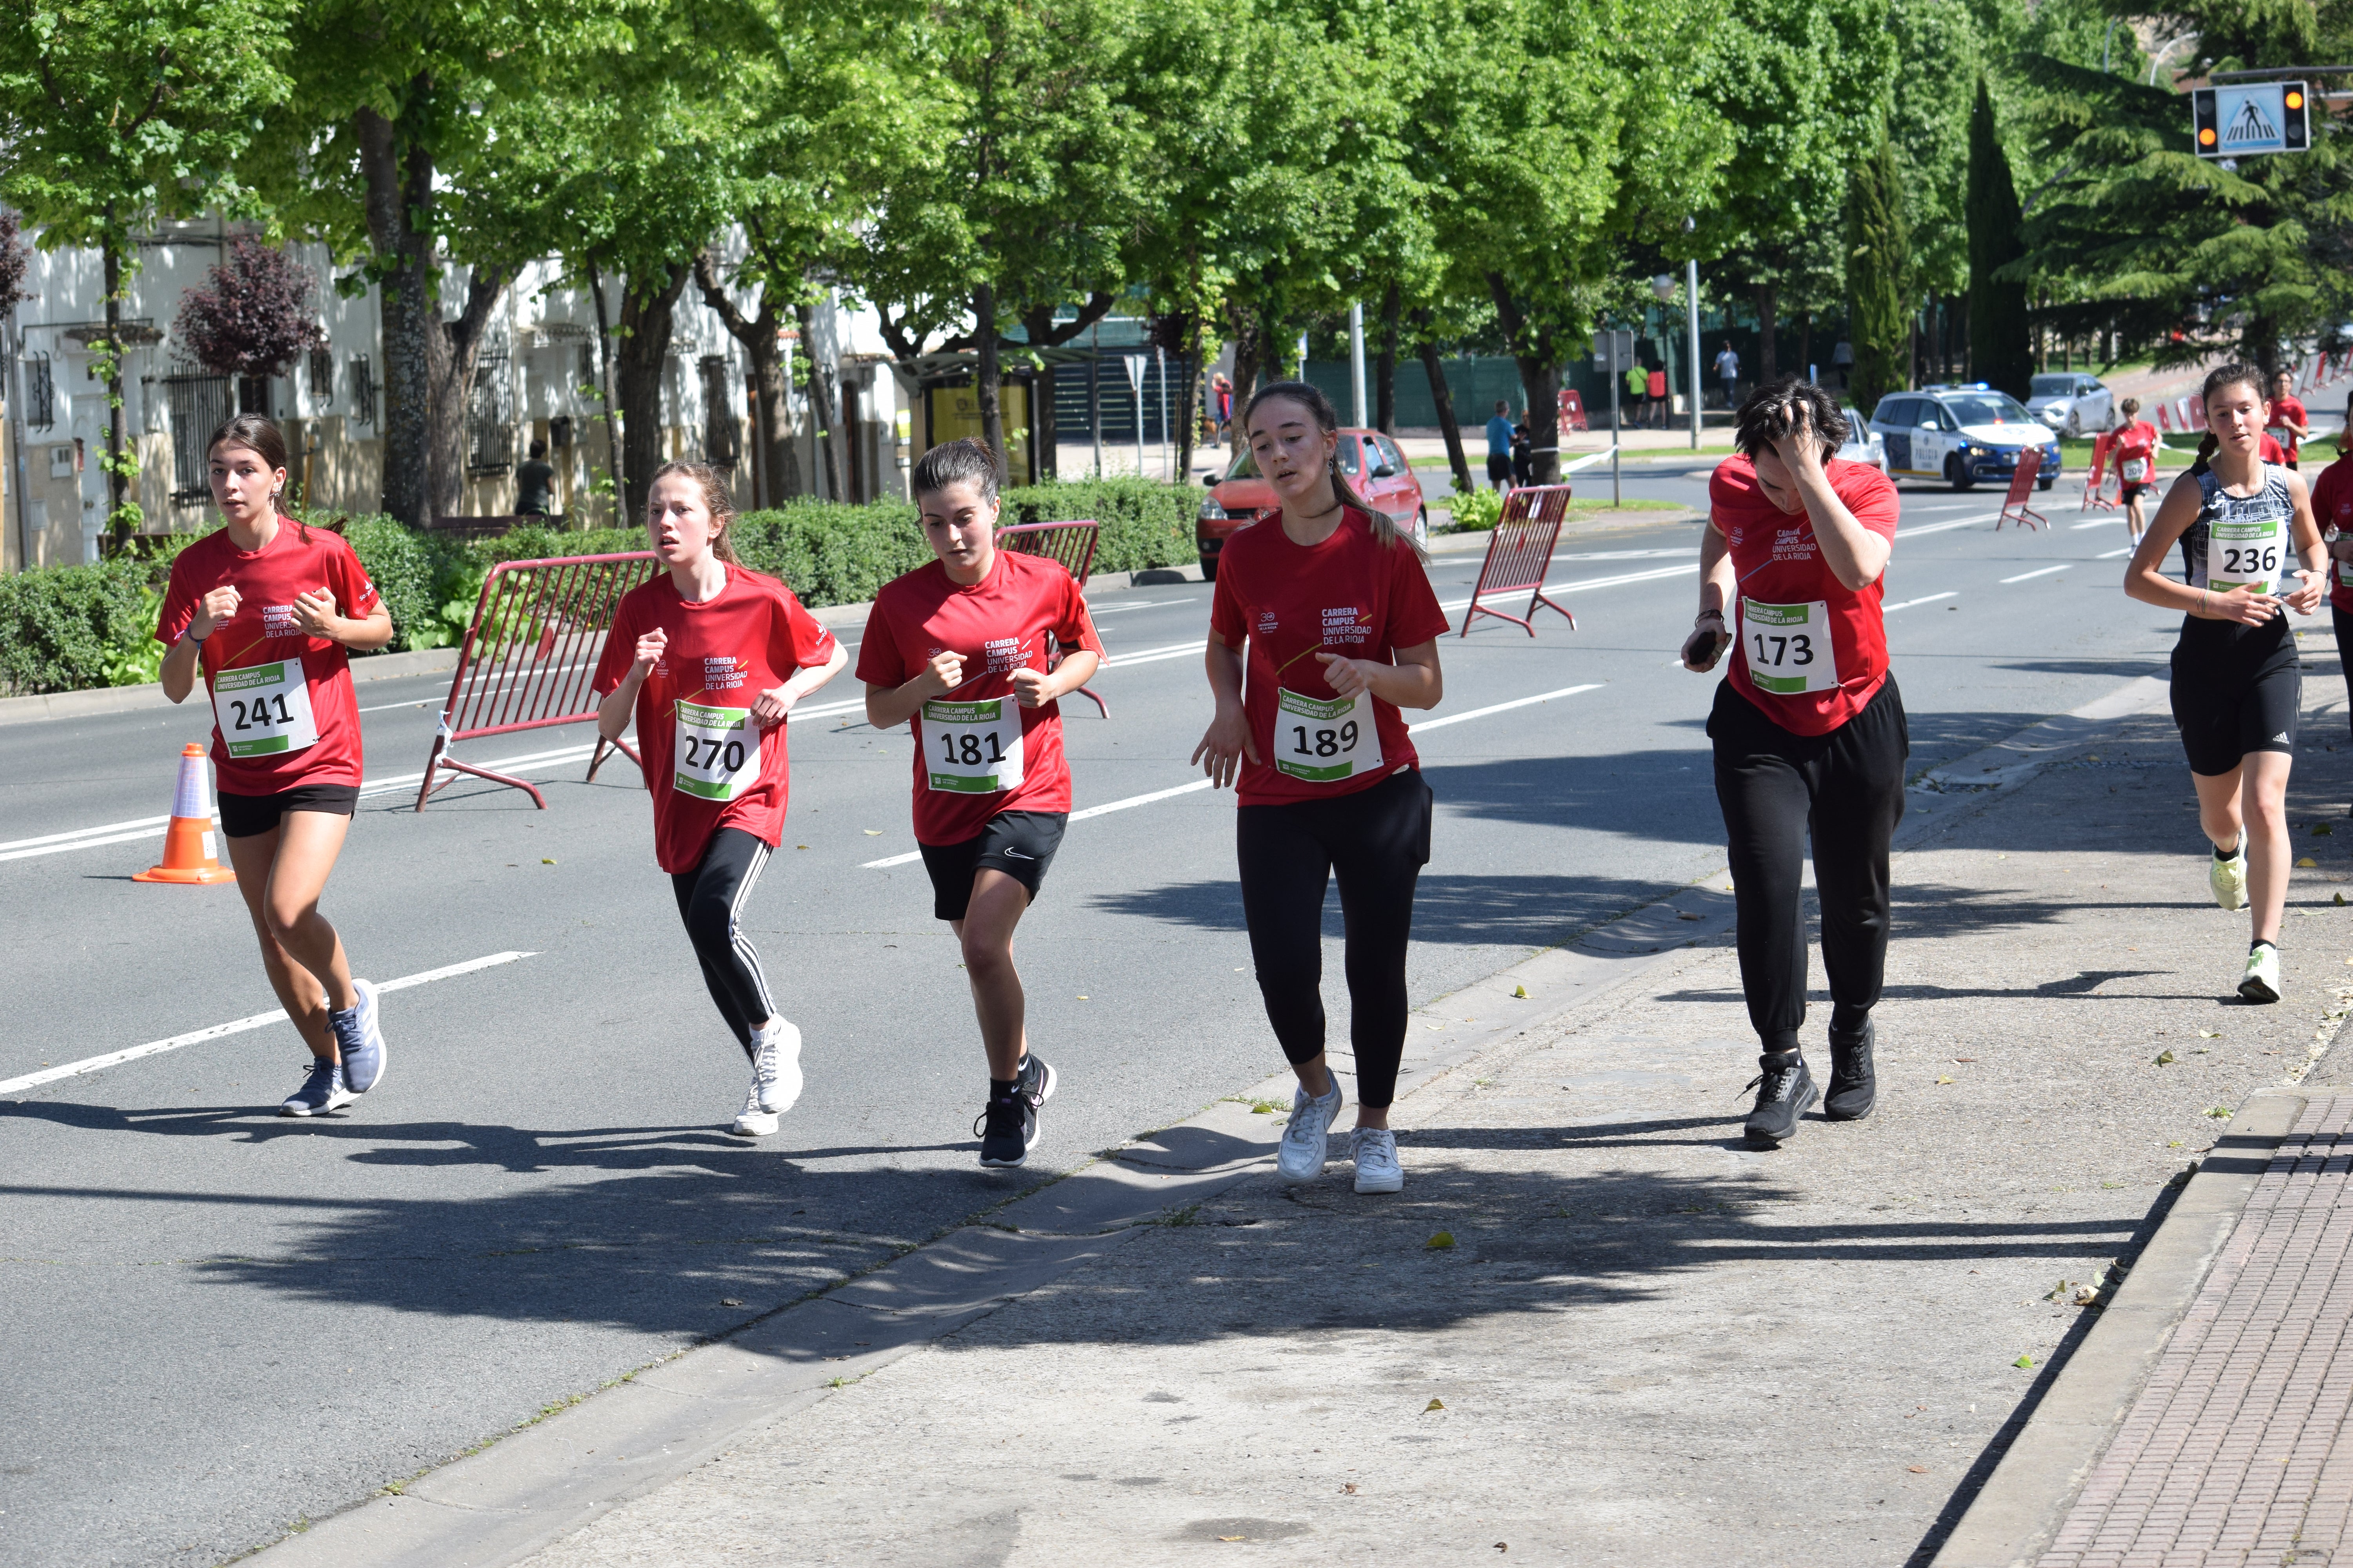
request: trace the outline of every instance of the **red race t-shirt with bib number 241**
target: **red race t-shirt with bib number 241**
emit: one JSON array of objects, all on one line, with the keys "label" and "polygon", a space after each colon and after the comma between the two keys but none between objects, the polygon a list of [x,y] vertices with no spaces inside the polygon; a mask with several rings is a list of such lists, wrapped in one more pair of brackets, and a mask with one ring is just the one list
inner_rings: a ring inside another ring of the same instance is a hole
[{"label": "red race t-shirt with bib number 241", "polygon": [[360,783],[360,701],[351,654],[311,637],[294,595],[325,588],[339,616],[365,618],[376,585],[341,534],[278,520],[259,550],[228,529],[205,534],[172,562],[155,642],[179,642],[214,588],[238,590],[238,614],[198,649],[212,696],[212,766],[224,795],[278,795],[296,785]]}]

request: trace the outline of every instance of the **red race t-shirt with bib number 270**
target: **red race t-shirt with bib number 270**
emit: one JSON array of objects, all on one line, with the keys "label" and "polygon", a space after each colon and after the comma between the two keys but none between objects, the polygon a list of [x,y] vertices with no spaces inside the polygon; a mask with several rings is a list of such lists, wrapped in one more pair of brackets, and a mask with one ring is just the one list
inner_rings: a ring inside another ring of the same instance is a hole
[{"label": "red race t-shirt with bib number 270", "polygon": [[727,585],[701,604],[671,574],[621,595],[595,665],[609,696],[638,661],[638,637],[661,628],[668,646],[638,686],[638,755],[654,797],[654,860],[692,872],[720,827],[769,849],[784,839],[791,795],[784,724],[760,731],[751,705],[795,670],[833,656],[833,632],[772,576],[727,567]]}]

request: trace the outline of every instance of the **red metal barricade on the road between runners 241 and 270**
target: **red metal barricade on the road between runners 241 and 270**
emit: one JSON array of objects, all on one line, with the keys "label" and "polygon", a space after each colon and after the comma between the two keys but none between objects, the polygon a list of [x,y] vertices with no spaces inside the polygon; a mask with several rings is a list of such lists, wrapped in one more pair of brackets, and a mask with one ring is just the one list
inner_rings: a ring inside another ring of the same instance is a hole
[{"label": "red metal barricade on the road between runners 241 and 270", "polygon": [[[416,809],[424,811],[433,792],[454,783],[459,773],[473,773],[522,790],[546,811],[548,797],[534,785],[459,762],[449,748],[482,736],[595,719],[593,679],[612,616],[621,595],[652,576],[649,550],[492,567],[473,607],[473,625],[466,628],[466,642],[456,654],[449,701],[433,729],[433,755],[426,757],[426,776],[416,788]],[[607,748],[645,766],[626,741],[598,736],[588,757],[591,780],[605,764]]]}]

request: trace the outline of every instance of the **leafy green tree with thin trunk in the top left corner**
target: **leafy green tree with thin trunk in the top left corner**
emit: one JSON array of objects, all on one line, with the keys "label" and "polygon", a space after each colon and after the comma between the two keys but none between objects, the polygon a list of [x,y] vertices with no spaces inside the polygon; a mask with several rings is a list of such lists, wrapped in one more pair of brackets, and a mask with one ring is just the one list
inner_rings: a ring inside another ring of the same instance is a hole
[{"label": "leafy green tree with thin trunk in the top left corner", "polygon": [[122,301],[139,235],[209,207],[245,212],[235,165],[254,115],[287,94],[280,0],[19,0],[0,7],[0,197],[42,249],[99,252],[108,527],[129,536],[139,473],[122,428]]}]

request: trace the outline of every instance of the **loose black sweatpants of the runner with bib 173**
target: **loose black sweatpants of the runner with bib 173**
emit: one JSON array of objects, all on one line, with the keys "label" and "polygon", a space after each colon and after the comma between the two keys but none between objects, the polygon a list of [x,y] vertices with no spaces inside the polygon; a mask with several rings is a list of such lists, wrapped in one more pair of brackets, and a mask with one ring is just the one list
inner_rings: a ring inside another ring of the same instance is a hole
[{"label": "loose black sweatpants of the runner with bib 173", "polygon": [[1897,682],[1826,736],[1793,736],[1722,682],[1708,715],[1725,809],[1741,992],[1767,1051],[1805,1023],[1805,842],[1814,839],[1831,1027],[1859,1030],[1887,971],[1887,842],[1904,820],[1911,731]]}]

